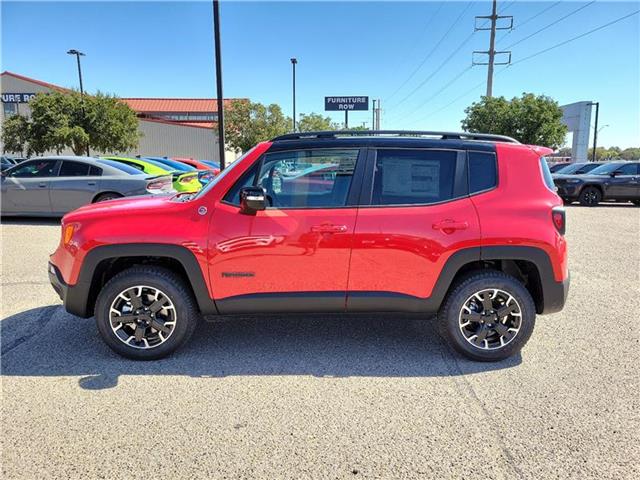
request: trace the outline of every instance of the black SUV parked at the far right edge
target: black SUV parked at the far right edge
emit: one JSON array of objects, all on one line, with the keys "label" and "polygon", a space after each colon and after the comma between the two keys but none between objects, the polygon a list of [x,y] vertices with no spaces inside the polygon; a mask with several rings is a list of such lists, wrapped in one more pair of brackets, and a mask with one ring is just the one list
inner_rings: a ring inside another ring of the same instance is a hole
[{"label": "black SUV parked at the far right edge", "polygon": [[640,206],[640,162],[604,163],[586,175],[560,175],[553,181],[566,204],[579,201],[594,207],[613,201]]}]

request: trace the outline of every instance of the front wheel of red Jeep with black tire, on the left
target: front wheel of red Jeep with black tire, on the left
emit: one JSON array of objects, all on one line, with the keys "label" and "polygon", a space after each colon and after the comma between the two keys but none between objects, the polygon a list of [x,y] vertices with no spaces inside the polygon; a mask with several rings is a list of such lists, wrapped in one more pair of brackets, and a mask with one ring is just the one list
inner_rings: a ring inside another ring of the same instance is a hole
[{"label": "front wheel of red Jeep with black tire, on the left", "polygon": [[[139,290],[141,286],[144,288]],[[156,316],[150,312],[157,308],[153,303],[153,294],[157,291],[160,294],[155,298],[164,302],[164,306],[156,312]],[[151,307],[149,312],[143,312],[142,319],[133,311],[136,297],[144,308],[149,310]],[[137,320],[117,322],[114,319],[119,315],[112,314],[112,307],[123,315],[122,318],[136,317]],[[166,268],[139,266],[124,270],[107,282],[98,294],[95,317],[102,339],[114,352],[133,360],[157,360],[189,340],[198,323],[199,312],[193,294],[179,276]],[[156,325],[163,327],[163,332],[153,328],[154,323],[150,322],[155,320],[160,321]],[[138,327],[145,332],[144,340],[131,337],[137,333]],[[127,337],[129,342],[124,340]]]}]

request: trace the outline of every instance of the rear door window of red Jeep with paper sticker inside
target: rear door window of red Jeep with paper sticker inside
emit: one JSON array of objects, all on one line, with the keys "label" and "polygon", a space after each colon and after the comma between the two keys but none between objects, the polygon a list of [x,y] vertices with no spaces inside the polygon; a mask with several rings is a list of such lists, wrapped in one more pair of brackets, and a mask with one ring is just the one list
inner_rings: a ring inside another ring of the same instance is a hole
[{"label": "rear door window of red Jeep with paper sticker inside", "polygon": [[453,198],[457,152],[378,150],[373,205],[419,205]]}]

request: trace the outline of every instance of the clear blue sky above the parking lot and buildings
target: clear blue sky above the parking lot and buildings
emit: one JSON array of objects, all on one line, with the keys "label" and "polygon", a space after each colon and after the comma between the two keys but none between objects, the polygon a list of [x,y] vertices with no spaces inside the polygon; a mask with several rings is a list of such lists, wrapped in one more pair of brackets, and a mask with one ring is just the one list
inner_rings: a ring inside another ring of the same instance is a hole
[{"label": "clear blue sky above the parking lot and buildings", "polygon": [[[471,64],[489,44],[488,31],[474,33],[474,16],[490,9],[484,1],[223,1],[224,96],[291,115],[296,57],[298,114],[325,114],[327,95],[366,95],[381,99],[382,128],[460,130],[464,109],[486,89],[487,67]],[[514,28],[496,36],[512,65],[496,67],[494,95],[600,102],[598,144],[640,146],[639,14],[544,52],[638,10],[638,0],[499,1]],[[0,13],[3,71],[77,88],[75,58],[65,54],[76,48],[86,53],[89,92],[215,97],[209,1],[3,0]],[[350,113],[350,126],[363,122],[371,126],[371,112]]]}]

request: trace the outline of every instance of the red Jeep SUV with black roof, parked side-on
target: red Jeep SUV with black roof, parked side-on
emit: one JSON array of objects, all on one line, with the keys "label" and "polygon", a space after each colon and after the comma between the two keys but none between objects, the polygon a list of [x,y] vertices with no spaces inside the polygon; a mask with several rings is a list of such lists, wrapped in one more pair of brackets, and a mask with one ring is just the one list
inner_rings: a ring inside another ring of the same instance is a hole
[{"label": "red Jeep SUV with black roof, parked side-on", "polygon": [[474,133],[280,136],[198,193],[67,214],[49,277],[134,359],[173,352],[201,317],[369,312],[437,314],[455,350],[504,359],[567,296],[549,151]]}]

